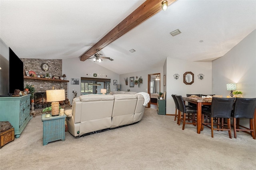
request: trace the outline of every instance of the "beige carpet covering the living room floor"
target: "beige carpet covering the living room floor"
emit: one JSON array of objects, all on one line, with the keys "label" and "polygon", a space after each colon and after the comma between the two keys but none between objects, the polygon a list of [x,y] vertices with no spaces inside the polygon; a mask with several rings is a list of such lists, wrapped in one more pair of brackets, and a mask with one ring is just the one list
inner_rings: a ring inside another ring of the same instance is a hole
[{"label": "beige carpet covering the living room floor", "polygon": [[[20,138],[0,149],[1,170],[252,170],[256,168],[256,140],[238,132],[209,128],[201,134],[196,127],[185,130],[173,116],[157,115],[145,108],[144,117],[134,125],[74,137],[42,145],[41,116],[26,126]],[[232,133],[234,136],[234,134]]]}]

